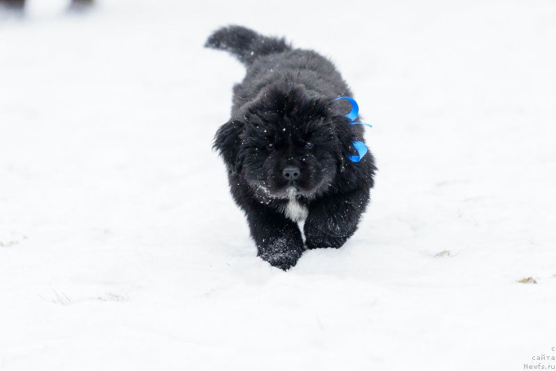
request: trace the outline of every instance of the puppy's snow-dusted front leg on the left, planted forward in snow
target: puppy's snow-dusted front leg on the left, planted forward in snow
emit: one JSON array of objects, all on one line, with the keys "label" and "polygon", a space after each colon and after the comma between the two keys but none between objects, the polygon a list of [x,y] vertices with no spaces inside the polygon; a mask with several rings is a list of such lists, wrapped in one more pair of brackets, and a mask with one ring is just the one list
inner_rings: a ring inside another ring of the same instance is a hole
[{"label": "puppy's snow-dusted front leg on the left, planted forward in snow", "polygon": [[297,224],[275,211],[258,207],[247,221],[259,255],[270,265],[288,270],[303,254],[304,245]]}]

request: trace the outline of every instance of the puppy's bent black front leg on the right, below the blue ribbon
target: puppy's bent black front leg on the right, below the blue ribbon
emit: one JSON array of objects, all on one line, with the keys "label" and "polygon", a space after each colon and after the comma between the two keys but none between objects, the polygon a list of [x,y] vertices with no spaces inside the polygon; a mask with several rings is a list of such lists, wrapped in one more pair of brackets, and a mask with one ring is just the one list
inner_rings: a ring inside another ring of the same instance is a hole
[{"label": "puppy's bent black front leg on the right, below the blue ribbon", "polygon": [[307,248],[342,247],[357,229],[368,200],[368,190],[361,190],[327,197],[309,205],[304,226]]}]

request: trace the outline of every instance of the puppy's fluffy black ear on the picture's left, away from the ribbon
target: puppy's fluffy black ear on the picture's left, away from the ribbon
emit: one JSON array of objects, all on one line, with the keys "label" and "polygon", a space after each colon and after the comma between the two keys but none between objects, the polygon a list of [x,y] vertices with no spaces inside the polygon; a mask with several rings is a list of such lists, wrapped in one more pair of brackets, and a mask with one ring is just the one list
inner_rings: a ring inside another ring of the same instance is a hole
[{"label": "puppy's fluffy black ear on the picture's left, away from the ribbon", "polygon": [[241,145],[239,135],[245,131],[245,124],[240,121],[230,120],[220,126],[214,136],[213,149],[216,149],[224,163],[231,167],[232,172],[238,173],[241,164],[238,161],[238,151]]}]

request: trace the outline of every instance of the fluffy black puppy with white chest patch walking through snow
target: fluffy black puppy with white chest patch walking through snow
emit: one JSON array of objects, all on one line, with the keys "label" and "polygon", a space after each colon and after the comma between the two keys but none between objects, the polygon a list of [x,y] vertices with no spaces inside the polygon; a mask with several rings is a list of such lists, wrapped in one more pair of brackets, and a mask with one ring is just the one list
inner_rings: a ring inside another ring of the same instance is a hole
[{"label": "fluffy black puppy with white chest patch walking through snow", "polygon": [[370,153],[350,160],[362,127],[346,117],[347,101],[336,100],[352,96],[341,75],[315,51],[245,27],[220,28],[205,46],[247,67],[214,147],[259,256],[287,270],[304,252],[303,232],[308,249],[341,247],[357,229],[376,170]]}]

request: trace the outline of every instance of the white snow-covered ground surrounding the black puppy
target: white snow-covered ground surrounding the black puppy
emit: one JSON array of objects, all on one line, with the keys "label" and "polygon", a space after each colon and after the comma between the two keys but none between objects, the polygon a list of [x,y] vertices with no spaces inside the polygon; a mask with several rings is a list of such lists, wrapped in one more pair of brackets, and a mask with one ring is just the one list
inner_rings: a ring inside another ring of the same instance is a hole
[{"label": "white snow-covered ground surrounding the black puppy", "polygon": [[[556,3],[278,3],[0,15],[0,370],[556,356]],[[359,231],[289,272],[256,258],[211,151],[243,77],[202,48],[224,24],[332,58],[374,125]]]}]

